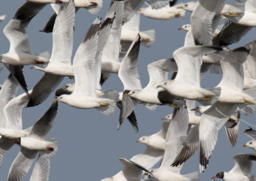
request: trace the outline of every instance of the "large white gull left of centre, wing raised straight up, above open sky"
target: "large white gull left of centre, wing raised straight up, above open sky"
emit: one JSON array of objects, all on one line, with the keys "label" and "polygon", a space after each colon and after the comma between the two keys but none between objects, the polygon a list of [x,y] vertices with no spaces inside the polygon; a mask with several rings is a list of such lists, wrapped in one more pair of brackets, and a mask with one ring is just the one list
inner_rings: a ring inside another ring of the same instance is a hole
[{"label": "large white gull left of centre, wing raised straight up, above open sky", "polygon": [[[100,59],[95,59],[98,44],[98,31],[101,21],[97,18],[77,48],[74,57],[75,89],[70,95],[62,95],[55,101],[66,103],[76,108],[97,108],[100,112],[110,115],[115,111],[119,94],[116,89],[96,95],[97,76],[100,70]],[[93,47],[93,48],[92,48]]]}]

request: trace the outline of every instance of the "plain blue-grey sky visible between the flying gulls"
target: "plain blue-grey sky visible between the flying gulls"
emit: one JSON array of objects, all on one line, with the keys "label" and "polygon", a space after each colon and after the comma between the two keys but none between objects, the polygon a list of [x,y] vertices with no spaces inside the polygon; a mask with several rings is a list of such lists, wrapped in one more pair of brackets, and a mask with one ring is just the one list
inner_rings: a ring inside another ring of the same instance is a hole
[{"label": "plain blue-grey sky visible between the flying gulls", "polygon": [[[75,32],[74,32],[74,48],[73,56],[77,47],[81,43],[88,27],[92,24],[97,16],[105,17],[109,7],[109,0],[103,0],[102,10],[98,15],[91,15],[87,10],[81,9],[76,13]],[[2,0],[0,6],[0,15],[6,14],[7,18],[0,23],[0,54],[8,52],[10,43],[3,34],[5,25],[15,15],[17,9],[26,1],[24,0]],[[179,0],[178,3],[186,3],[188,1]],[[235,1],[226,1],[234,3]],[[51,17],[53,10],[50,5],[36,15],[28,25],[27,33],[29,42],[34,54],[49,51],[52,49],[52,34],[40,33]],[[179,47],[184,45],[184,37],[186,32],[178,31],[179,27],[189,24],[191,13],[186,12],[186,18],[173,18],[170,20],[152,20],[141,16],[140,30],[148,29],[156,30],[156,41],[150,48],[141,46],[138,59],[138,71],[141,78],[141,84],[145,87],[148,83],[147,64],[172,57],[172,53]],[[256,31],[253,28],[242,40],[232,48],[243,46],[250,41],[255,40]],[[31,66],[24,68],[24,76],[28,89],[33,86],[44,75],[42,71],[30,69]],[[4,68],[0,75],[0,83],[3,83],[8,76],[8,71]],[[214,87],[220,82],[220,75],[212,75],[207,73],[202,80],[202,87]],[[65,83],[71,82],[65,78],[60,83],[59,88]],[[103,91],[116,88],[118,91],[123,90],[122,82],[117,75],[112,75],[102,86]],[[20,89],[17,95],[22,94]],[[54,94],[41,105],[24,108],[22,112],[23,127],[27,128],[33,125],[47,111],[54,99]],[[118,117],[120,111],[116,108],[115,112],[109,117],[100,113],[95,109],[81,110],[59,103],[59,109],[54,120],[54,124],[47,138],[56,137],[59,143],[59,150],[55,156],[51,157],[51,171],[49,180],[101,180],[102,178],[111,177],[122,170],[122,164],[118,161],[118,157],[131,158],[136,154],[140,154],[145,150],[145,145],[136,143],[141,136],[154,134],[161,129],[161,118],[172,113],[172,108],[168,106],[158,106],[154,112],[150,112],[144,106],[136,106],[135,113],[138,120],[139,133],[135,133],[127,120],[122,124],[118,131]],[[244,116],[244,119],[251,124],[256,124],[255,115]],[[242,145],[250,140],[243,134],[244,129],[248,125],[241,122],[240,133],[237,139],[236,147],[232,148],[227,140],[225,129],[220,130],[218,142],[211,156],[209,166],[205,173],[200,174],[200,180],[211,180],[211,177],[220,171],[229,171],[234,166],[232,156],[239,153],[253,153],[250,148],[242,148]],[[17,156],[20,148],[15,145],[4,156],[2,166],[0,168],[0,180],[6,180],[10,166]],[[253,166],[252,173],[255,173]],[[31,171],[23,180],[29,180]],[[198,170],[198,152],[189,159],[182,168],[181,173],[191,173]]]}]

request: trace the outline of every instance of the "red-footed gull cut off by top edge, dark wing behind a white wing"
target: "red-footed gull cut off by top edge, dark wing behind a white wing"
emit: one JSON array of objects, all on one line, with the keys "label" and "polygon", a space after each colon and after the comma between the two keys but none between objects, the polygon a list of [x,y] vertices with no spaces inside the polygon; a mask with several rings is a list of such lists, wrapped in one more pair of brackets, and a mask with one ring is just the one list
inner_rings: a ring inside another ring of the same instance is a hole
[{"label": "red-footed gull cut off by top edge, dark wing behind a white wing", "polygon": [[[45,0],[42,0],[45,1]],[[48,1],[48,0],[47,0]],[[52,1],[52,0],[49,0]],[[54,0],[53,0],[54,1]],[[57,0],[60,1],[60,0]],[[102,0],[93,0],[93,1],[88,1],[88,0],[74,0],[75,7],[76,7],[76,12],[80,8],[86,8],[86,10],[89,11],[89,13],[92,13],[93,15],[99,13],[99,11],[102,8]],[[51,18],[49,18],[47,24],[45,25],[44,29],[41,30],[41,32],[44,33],[52,33],[53,27],[54,27],[54,22],[56,20],[57,14],[54,13]]]}]

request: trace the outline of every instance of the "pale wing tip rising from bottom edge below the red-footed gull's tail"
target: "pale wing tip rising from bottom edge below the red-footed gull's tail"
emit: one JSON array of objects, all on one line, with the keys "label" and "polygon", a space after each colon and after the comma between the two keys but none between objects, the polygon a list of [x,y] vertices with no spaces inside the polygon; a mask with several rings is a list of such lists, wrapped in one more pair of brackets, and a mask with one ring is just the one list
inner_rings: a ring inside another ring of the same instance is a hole
[{"label": "pale wing tip rising from bottom edge below the red-footed gull's tail", "polygon": [[42,158],[39,154],[34,166],[30,181],[47,181],[49,180],[50,159]]}]

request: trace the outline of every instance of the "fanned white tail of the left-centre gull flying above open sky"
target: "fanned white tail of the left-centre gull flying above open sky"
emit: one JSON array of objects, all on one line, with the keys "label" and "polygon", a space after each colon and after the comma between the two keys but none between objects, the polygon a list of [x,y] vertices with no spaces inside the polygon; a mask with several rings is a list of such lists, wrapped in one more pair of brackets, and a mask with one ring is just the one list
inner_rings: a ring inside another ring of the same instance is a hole
[{"label": "fanned white tail of the left-centre gull flying above open sky", "polygon": [[115,111],[116,102],[119,99],[118,91],[116,89],[106,91],[99,98],[110,99],[110,101],[108,101],[108,104],[109,104],[108,106],[100,106],[99,108],[97,108],[97,110],[104,113],[105,115],[111,115],[111,113]]}]

